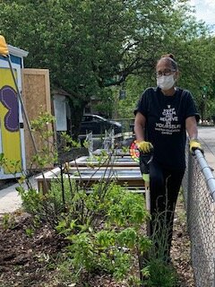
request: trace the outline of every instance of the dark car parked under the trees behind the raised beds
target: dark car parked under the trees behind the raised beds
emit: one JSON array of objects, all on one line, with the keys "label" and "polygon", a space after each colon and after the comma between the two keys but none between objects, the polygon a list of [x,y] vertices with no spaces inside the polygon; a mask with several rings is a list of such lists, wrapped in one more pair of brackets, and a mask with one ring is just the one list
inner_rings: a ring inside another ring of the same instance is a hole
[{"label": "dark car parked under the trees behind the raised beds", "polygon": [[105,117],[85,114],[82,117],[80,134],[86,135],[86,133],[92,132],[93,135],[102,135],[105,134],[106,130],[110,131],[111,129],[114,129],[115,134],[120,134],[122,133],[123,127],[121,123],[108,120]]}]

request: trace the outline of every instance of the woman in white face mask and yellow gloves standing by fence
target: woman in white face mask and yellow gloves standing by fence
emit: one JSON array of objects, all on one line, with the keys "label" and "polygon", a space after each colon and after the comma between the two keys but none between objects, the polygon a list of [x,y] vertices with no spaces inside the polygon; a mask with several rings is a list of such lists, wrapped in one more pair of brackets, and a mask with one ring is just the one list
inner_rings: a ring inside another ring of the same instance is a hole
[{"label": "woman in white face mask and yellow gloves standing by fence", "polygon": [[134,111],[138,148],[143,153],[153,152],[150,162],[150,234],[157,248],[163,242],[167,261],[176,199],[185,173],[186,132],[191,152],[202,149],[197,140],[199,115],[191,92],[176,87],[178,73],[174,56],[162,56],[156,65],[157,87],[142,93]]}]

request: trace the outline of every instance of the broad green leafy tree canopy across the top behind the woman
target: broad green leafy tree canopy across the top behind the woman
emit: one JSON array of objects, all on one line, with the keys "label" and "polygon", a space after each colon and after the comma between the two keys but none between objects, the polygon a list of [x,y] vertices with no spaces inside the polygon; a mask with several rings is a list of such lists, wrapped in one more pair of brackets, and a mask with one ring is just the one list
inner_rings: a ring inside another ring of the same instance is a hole
[{"label": "broad green leafy tree canopy across the top behind the woman", "polygon": [[132,83],[132,95],[153,84],[154,65],[168,52],[182,70],[180,83],[196,97],[200,86],[211,83],[214,40],[187,3],[3,0],[0,32],[8,43],[29,51],[26,66],[49,69],[52,87],[73,95],[80,119],[90,97],[106,99],[108,87],[126,82],[129,90]]}]

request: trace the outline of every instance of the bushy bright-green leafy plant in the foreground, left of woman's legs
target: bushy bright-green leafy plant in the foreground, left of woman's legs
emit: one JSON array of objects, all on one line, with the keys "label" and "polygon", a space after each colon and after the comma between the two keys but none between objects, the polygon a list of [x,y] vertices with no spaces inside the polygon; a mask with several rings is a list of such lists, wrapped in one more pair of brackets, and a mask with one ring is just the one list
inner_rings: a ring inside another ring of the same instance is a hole
[{"label": "bushy bright-green leafy plant in the foreground, left of woman's legs", "polygon": [[84,271],[103,270],[117,280],[125,279],[131,272],[133,252],[139,256],[150,247],[150,240],[141,230],[149,216],[142,196],[114,182],[108,186],[94,185],[88,196],[84,191],[79,193],[76,203],[81,203],[80,196],[84,206],[78,213],[73,209],[73,215],[67,214],[56,226],[71,241],[67,249],[73,259],[74,274],[77,277]]}]

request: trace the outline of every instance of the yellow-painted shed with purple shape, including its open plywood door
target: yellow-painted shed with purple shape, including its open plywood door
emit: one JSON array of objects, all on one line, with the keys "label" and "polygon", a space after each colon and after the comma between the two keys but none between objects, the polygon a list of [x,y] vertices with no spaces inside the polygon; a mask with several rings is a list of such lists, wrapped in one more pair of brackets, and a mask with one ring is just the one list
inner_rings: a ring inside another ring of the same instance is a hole
[{"label": "yellow-painted shed with purple shape, including its open plywood door", "polygon": [[[49,71],[24,68],[23,58],[28,56],[28,52],[11,45],[8,45],[8,50],[29,122],[36,119],[41,111],[51,114]],[[7,58],[0,56],[0,154],[4,153],[6,159],[6,164],[0,167],[0,179],[20,178],[26,170],[35,168],[31,159],[36,152],[13,74]],[[47,128],[53,130],[51,125]],[[50,145],[52,141],[53,137],[50,138]],[[38,151],[42,144],[37,138]],[[50,167],[52,165],[47,166]]]}]

